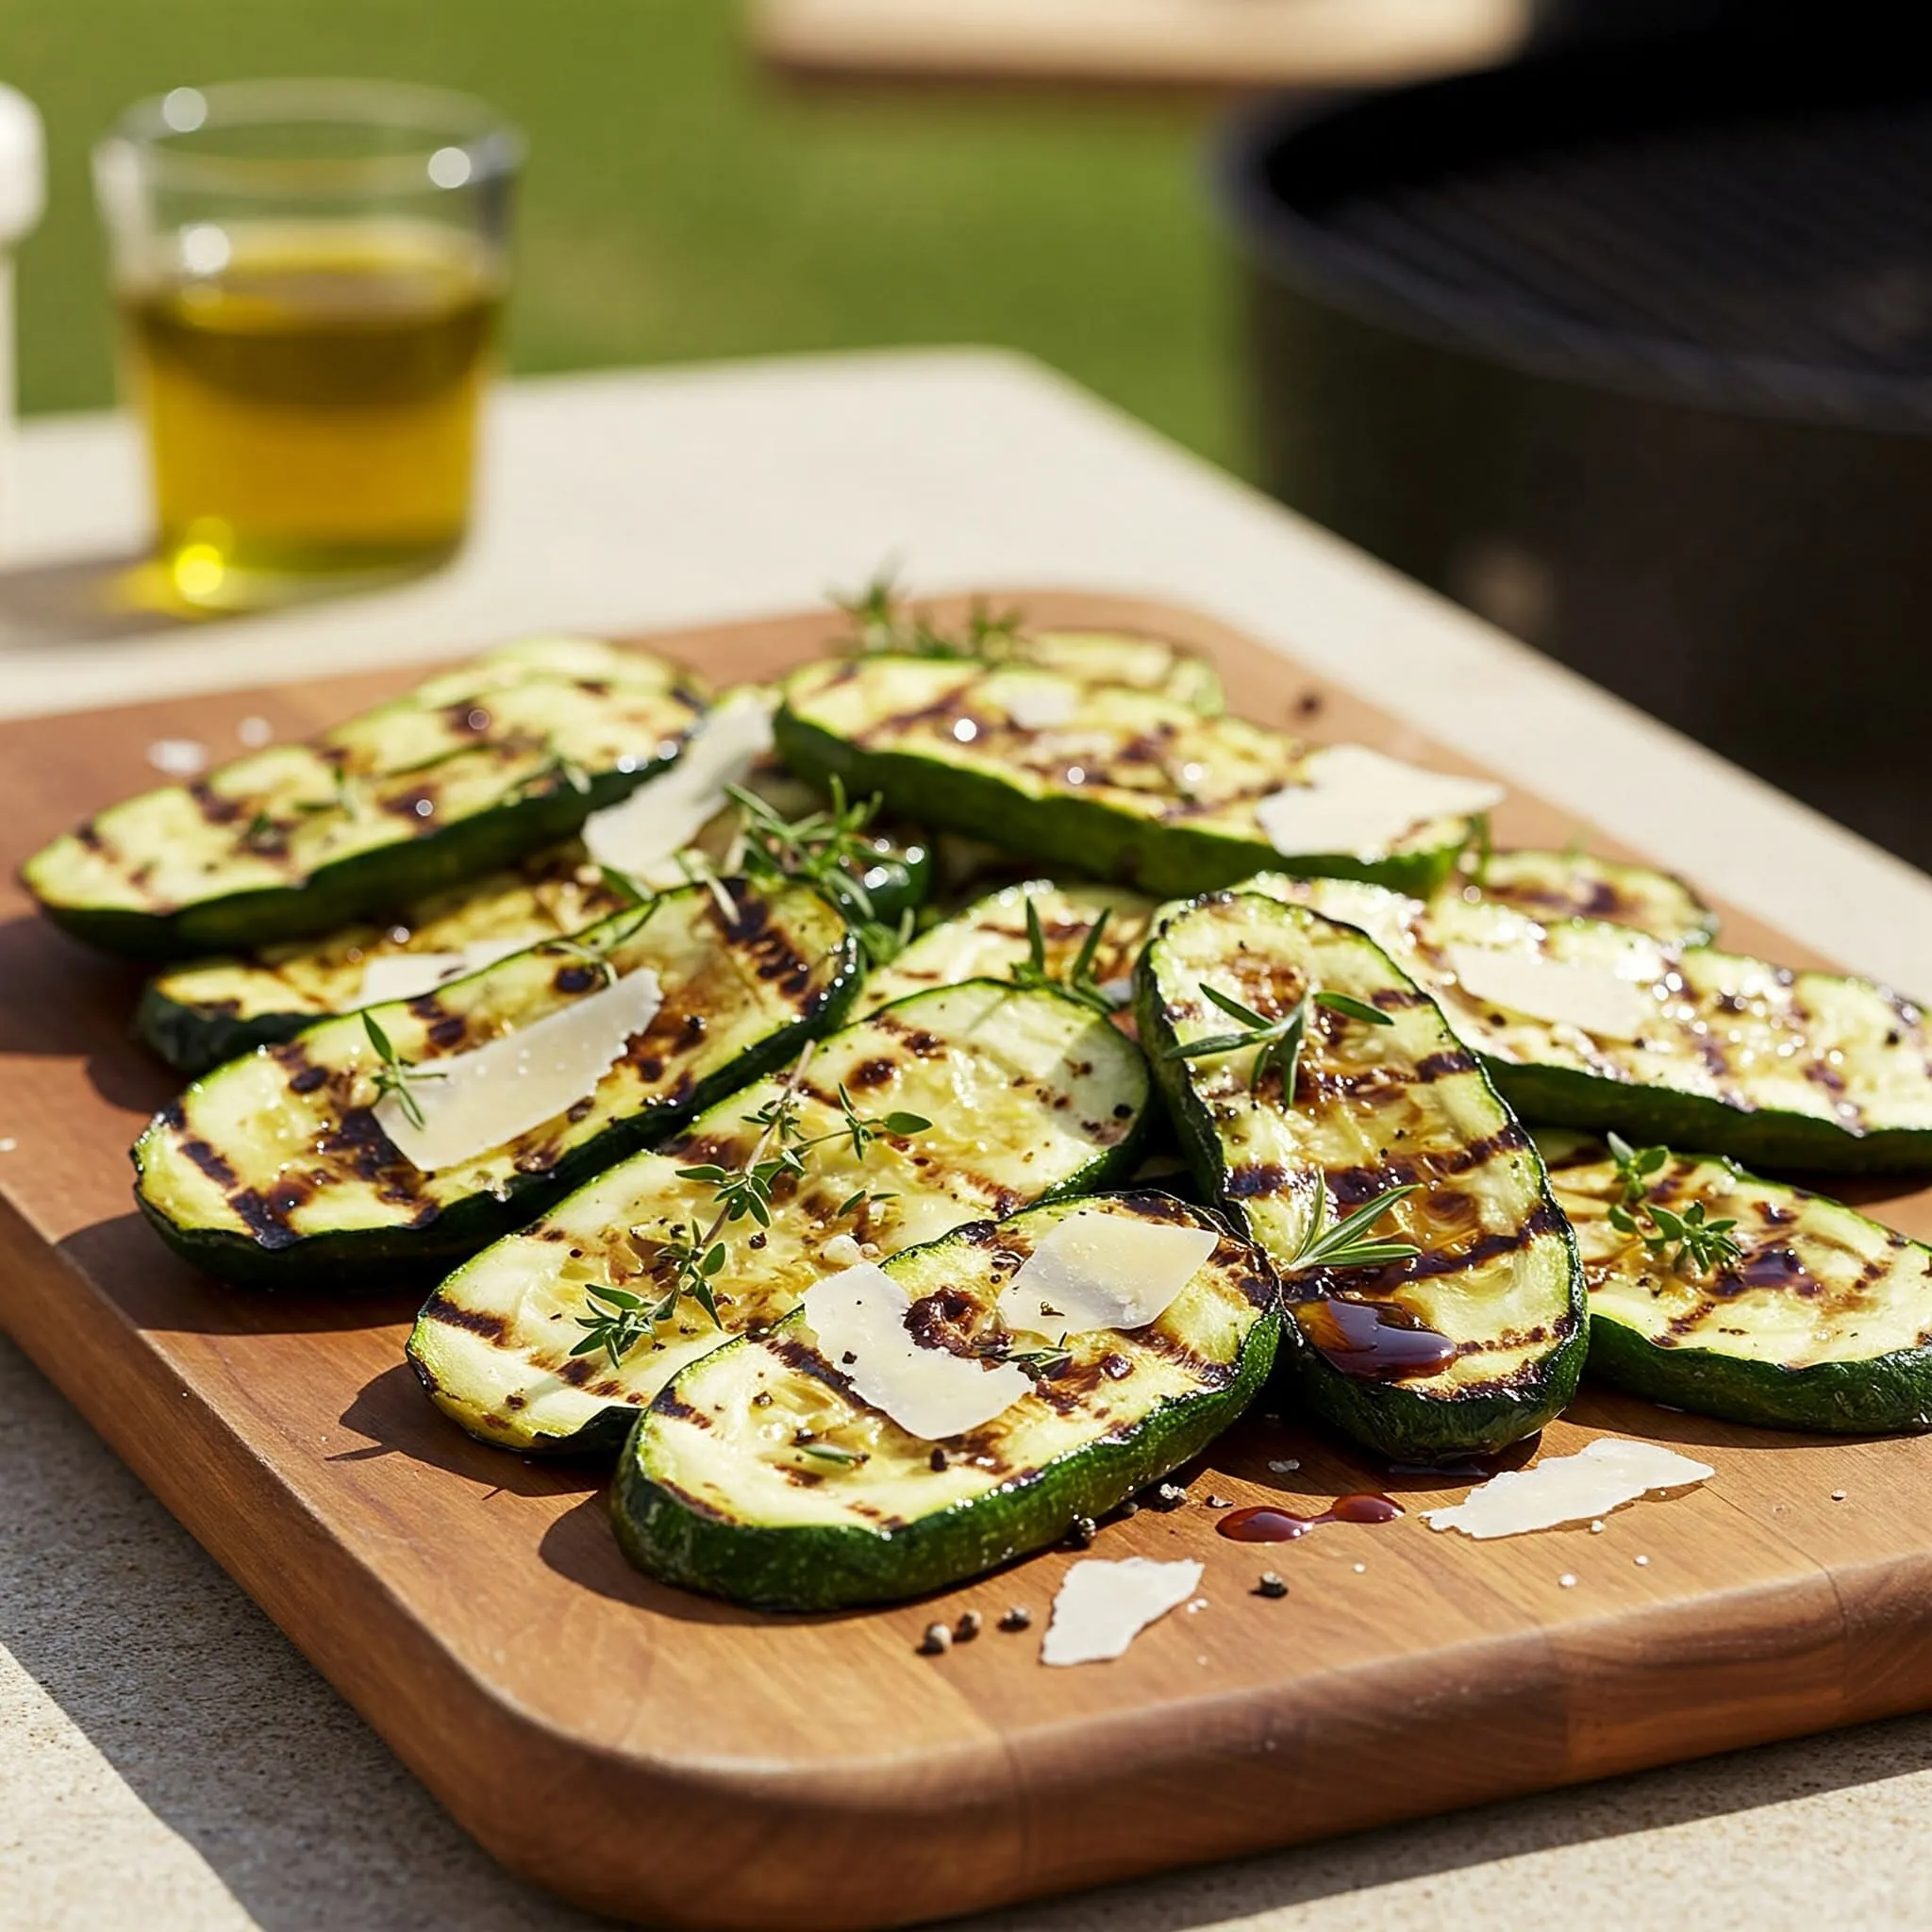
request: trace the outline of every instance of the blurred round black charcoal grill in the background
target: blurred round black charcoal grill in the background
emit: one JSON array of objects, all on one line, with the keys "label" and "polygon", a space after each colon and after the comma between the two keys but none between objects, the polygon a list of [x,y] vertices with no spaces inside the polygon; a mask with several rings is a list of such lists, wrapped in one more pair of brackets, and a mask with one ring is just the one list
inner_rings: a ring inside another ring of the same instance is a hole
[{"label": "blurred round black charcoal grill in the background", "polygon": [[1277,104],[1219,191],[1269,489],[1932,866],[1932,79],[1845,21]]}]

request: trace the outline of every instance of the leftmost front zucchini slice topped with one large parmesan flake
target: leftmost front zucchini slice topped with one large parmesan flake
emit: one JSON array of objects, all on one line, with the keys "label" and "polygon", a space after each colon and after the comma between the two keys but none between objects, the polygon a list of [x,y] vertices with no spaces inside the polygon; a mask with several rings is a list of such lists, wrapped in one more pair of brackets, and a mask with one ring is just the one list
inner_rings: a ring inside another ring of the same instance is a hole
[{"label": "leftmost front zucchini slice topped with one large parmesan flake", "polygon": [[837,1022],[856,943],[806,887],[734,881],[738,916],[692,885],[369,1012],[404,1061],[435,1066],[649,968],[663,1005],[564,1115],[475,1159],[413,1167],[373,1105],[381,1059],[357,1014],[230,1061],[135,1142],[135,1202],[209,1273],[263,1289],[363,1289],[435,1277],[587,1175],[674,1132]]}]

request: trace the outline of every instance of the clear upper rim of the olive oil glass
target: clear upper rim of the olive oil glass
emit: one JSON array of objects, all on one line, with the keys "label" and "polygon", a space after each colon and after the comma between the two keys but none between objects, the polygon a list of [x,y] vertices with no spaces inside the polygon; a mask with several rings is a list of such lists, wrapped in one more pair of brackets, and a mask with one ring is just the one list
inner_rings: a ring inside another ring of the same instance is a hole
[{"label": "clear upper rim of the olive oil glass", "polygon": [[[222,155],[176,141],[224,128],[294,126],[402,129],[419,145],[373,155]],[[284,79],[174,87],[122,110],[95,145],[95,160],[133,162],[155,187],[288,199],[342,193],[419,193],[475,187],[516,174],[522,129],[487,100],[415,81]],[[446,155],[460,155],[435,166]]]}]

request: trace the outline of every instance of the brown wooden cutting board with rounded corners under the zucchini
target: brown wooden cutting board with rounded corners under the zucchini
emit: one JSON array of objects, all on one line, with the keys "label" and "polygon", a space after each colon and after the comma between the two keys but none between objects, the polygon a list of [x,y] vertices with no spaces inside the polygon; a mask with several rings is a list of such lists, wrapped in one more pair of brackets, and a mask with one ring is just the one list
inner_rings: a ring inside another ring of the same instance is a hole
[{"label": "brown wooden cutting board with rounded corners under the zucchini", "polygon": [[[1250,717],[1474,769],[1208,618],[999,601],[1180,638]],[[728,680],[835,630],[813,614],[649,641]],[[243,717],[301,732],[408,682],[0,726],[6,871],[147,784],[156,738],[228,755]],[[1561,844],[1577,827],[1519,794],[1497,831]],[[1725,935],[1810,958],[1737,914]],[[746,1932],[900,1924],[1932,1704],[1932,1443],[1764,1434],[1607,1395],[1546,1447],[1640,1434],[1716,1478],[1600,1534],[1501,1544],[1414,1515],[1464,1484],[1250,1418],[1184,1509],[1101,1532],[1097,1555],[1206,1563],[1204,1602],[1119,1663],[1039,1665],[1066,1553],[838,1617],[659,1588],[618,1555],[593,1470],[485,1449],[429,1406],[402,1360],[408,1304],[226,1289],[147,1233],[128,1146],[174,1082],[128,1037],[135,987],[0,887],[0,1320],[456,1818],[583,1905]],[[1862,1198],[1932,1235],[1932,1192]],[[1410,1513],[1256,1548],[1215,1536],[1206,1505],[1306,1511],[1364,1488]],[[1264,1565],[1287,1600],[1252,1594]],[[1009,1604],[1032,1609],[1028,1633],[991,1629]],[[916,1654],[929,1621],[968,1607],[985,1634]]]}]

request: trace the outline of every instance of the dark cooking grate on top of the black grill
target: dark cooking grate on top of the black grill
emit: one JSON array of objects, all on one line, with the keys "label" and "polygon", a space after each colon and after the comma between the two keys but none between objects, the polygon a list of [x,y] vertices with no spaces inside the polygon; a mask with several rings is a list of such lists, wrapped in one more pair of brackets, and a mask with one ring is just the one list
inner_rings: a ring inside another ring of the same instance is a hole
[{"label": "dark cooking grate on top of the black grill", "polygon": [[1275,189],[1304,249],[1441,327],[1932,410],[1932,89],[1895,89],[1615,128],[1613,89],[1557,75],[1511,141],[1466,91],[1455,120],[1372,104],[1347,151],[1289,143]]}]

